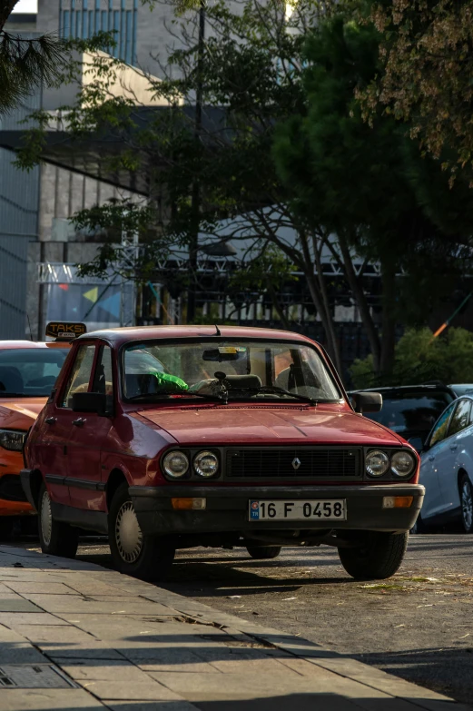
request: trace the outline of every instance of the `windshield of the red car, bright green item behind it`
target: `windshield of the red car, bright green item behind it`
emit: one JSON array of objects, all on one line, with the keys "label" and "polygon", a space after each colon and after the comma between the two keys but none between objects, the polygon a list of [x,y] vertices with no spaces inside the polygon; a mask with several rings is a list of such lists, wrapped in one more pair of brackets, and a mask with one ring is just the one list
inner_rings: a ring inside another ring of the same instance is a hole
[{"label": "windshield of the red car, bright green item behind it", "polygon": [[341,394],[310,346],[218,340],[133,343],[124,351],[124,396],[337,401]]}]

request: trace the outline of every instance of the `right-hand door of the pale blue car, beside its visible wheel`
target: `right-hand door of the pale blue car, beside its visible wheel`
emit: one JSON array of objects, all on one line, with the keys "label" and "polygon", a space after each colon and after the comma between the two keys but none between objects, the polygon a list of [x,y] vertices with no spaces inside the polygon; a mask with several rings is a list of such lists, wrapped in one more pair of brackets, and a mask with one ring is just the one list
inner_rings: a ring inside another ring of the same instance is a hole
[{"label": "right-hand door of the pale blue car, beside its visible wheel", "polygon": [[448,427],[448,449],[451,452],[451,462],[448,462],[445,469],[439,469],[443,510],[445,513],[451,511],[452,516],[460,506],[458,469],[465,469],[469,474],[473,474],[470,455],[473,441],[471,405],[472,400],[468,398],[457,401]]}]

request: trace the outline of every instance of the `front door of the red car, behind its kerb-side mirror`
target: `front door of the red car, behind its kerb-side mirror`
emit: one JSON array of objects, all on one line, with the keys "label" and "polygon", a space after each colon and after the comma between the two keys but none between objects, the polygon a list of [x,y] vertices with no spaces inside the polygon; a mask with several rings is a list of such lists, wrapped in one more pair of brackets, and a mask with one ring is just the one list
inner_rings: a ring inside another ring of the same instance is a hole
[{"label": "front door of the red car, behind its kerb-side mirror", "polygon": [[[103,343],[98,345],[93,377],[83,391],[101,392],[113,403],[112,350]],[[95,412],[76,411],[72,425],[67,479],[71,506],[104,511],[101,451],[111,428],[111,420]]]}]

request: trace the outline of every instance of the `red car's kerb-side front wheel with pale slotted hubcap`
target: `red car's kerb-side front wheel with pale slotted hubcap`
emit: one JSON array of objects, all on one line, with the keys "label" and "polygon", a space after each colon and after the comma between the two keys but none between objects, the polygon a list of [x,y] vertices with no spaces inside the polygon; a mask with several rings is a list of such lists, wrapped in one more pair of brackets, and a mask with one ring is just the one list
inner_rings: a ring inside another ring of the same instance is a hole
[{"label": "red car's kerb-side front wheel with pale slotted hubcap", "polygon": [[175,548],[166,538],[143,533],[123,483],[115,492],[108,516],[108,537],[115,567],[124,575],[148,581],[166,578]]}]

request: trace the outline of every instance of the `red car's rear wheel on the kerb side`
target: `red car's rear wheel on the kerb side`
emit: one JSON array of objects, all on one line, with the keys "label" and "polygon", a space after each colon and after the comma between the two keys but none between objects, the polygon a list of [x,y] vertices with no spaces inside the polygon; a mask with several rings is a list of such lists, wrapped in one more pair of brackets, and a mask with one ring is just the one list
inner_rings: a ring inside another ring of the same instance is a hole
[{"label": "red car's rear wheel on the kerb side", "polygon": [[38,533],[43,553],[74,558],[79,545],[79,530],[53,518],[51,499],[44,483],[38,499]]}]

